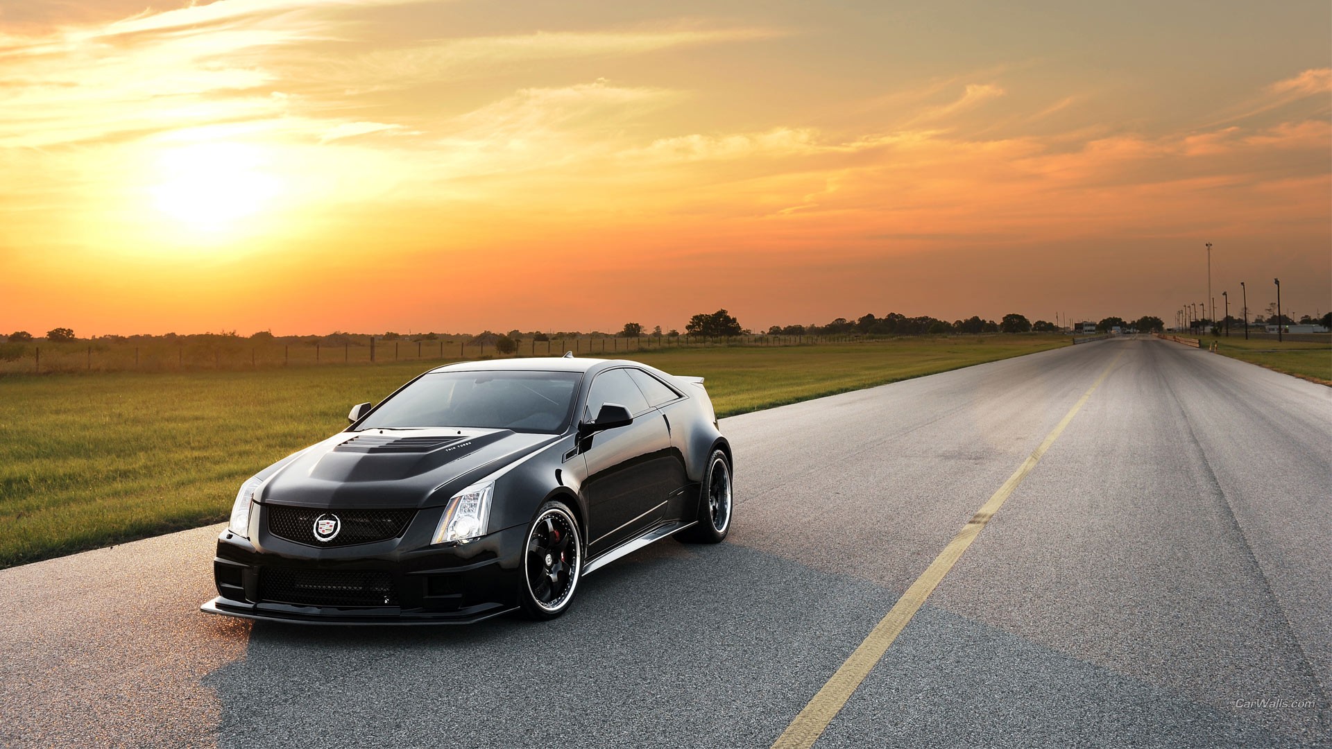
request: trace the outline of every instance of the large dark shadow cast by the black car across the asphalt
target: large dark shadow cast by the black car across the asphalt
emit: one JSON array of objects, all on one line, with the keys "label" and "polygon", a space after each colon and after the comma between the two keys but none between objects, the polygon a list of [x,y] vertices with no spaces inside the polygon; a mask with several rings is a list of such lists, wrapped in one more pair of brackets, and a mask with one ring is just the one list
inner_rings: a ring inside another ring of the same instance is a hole
[{"label": "large dark shadow cast by the black car across the asphalt", "polygon": [[[737,544],[666,542],[585,578],[549,622],[257,622],[245,657],[205,684],[222,705],[220,746],[769,746],[896,597]],[[903,638],[910,646],[890,652],[819,746],[1275,741],[1233,714],[947,612],[924,609]],[[976,641],[1002,646],[978,668],[911,681]],[[1008,669],[1015,656],[1028,666]],[[1062,696],[1054,706],[1023,701],[1051,690]],[[976,709],[995,696],[1003,725]],[[1199,725],[1221,730],[1176,730]]]}]

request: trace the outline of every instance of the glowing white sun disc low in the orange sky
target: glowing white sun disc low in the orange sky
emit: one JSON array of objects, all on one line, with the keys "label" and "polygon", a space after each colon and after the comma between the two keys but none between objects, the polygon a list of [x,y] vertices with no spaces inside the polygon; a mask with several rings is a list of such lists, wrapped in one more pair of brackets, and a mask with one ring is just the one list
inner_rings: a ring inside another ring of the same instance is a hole
[{"label": "glowing white sun disc low in the orange sky", "polygon": [[234,233],[269,208],[281,181],[265,151],[238,143],[196,143],[161,152],[153,201],[163,215],[202,235]]}]

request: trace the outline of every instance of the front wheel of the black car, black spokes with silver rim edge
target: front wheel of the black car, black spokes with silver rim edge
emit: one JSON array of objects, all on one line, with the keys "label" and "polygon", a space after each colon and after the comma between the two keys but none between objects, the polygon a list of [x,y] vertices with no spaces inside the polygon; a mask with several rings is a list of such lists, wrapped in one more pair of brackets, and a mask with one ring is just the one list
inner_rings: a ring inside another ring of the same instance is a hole
[{"label": "front wheel of the black car, black spokes with silver rim edge", "polygon": [[527,526],[518,581],[518,605],[523,616],[550,620],[573,602],[582,574],[582,533],[569,508],[547,501]]}]

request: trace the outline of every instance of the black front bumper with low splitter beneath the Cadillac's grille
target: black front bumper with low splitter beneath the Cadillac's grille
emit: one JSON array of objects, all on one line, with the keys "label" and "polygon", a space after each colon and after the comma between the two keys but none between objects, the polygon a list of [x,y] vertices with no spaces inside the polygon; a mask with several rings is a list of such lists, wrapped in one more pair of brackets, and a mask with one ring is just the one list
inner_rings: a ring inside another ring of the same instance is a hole
[{"label": "black front bumper with low splitter beneath the Cadillac's grille", "polygon": [[304,624],[476,622],[517,608],[525,540],[515,526],[461,545],[314,548],[224,530],[218,596],[200,610]]}]

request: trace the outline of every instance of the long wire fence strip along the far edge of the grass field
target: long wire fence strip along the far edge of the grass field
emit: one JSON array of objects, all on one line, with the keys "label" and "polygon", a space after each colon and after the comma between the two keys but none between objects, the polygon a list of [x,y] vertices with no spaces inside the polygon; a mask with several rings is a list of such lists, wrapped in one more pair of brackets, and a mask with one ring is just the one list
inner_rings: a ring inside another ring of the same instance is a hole
[{"label": "long wire fence strip along the far edge of the grass field", "polygon": [[844,344],[880,336],[579,336],[517,341],[502,353],[474,339],[360,340],[340,343],[212,336],[212,340],[47,341],[0,344],[0,374],[53,372],[194,372],[281,367],[370,365],[394,361],[448,363],[511,356],[607,356],[713,347],[798,347]]}]

